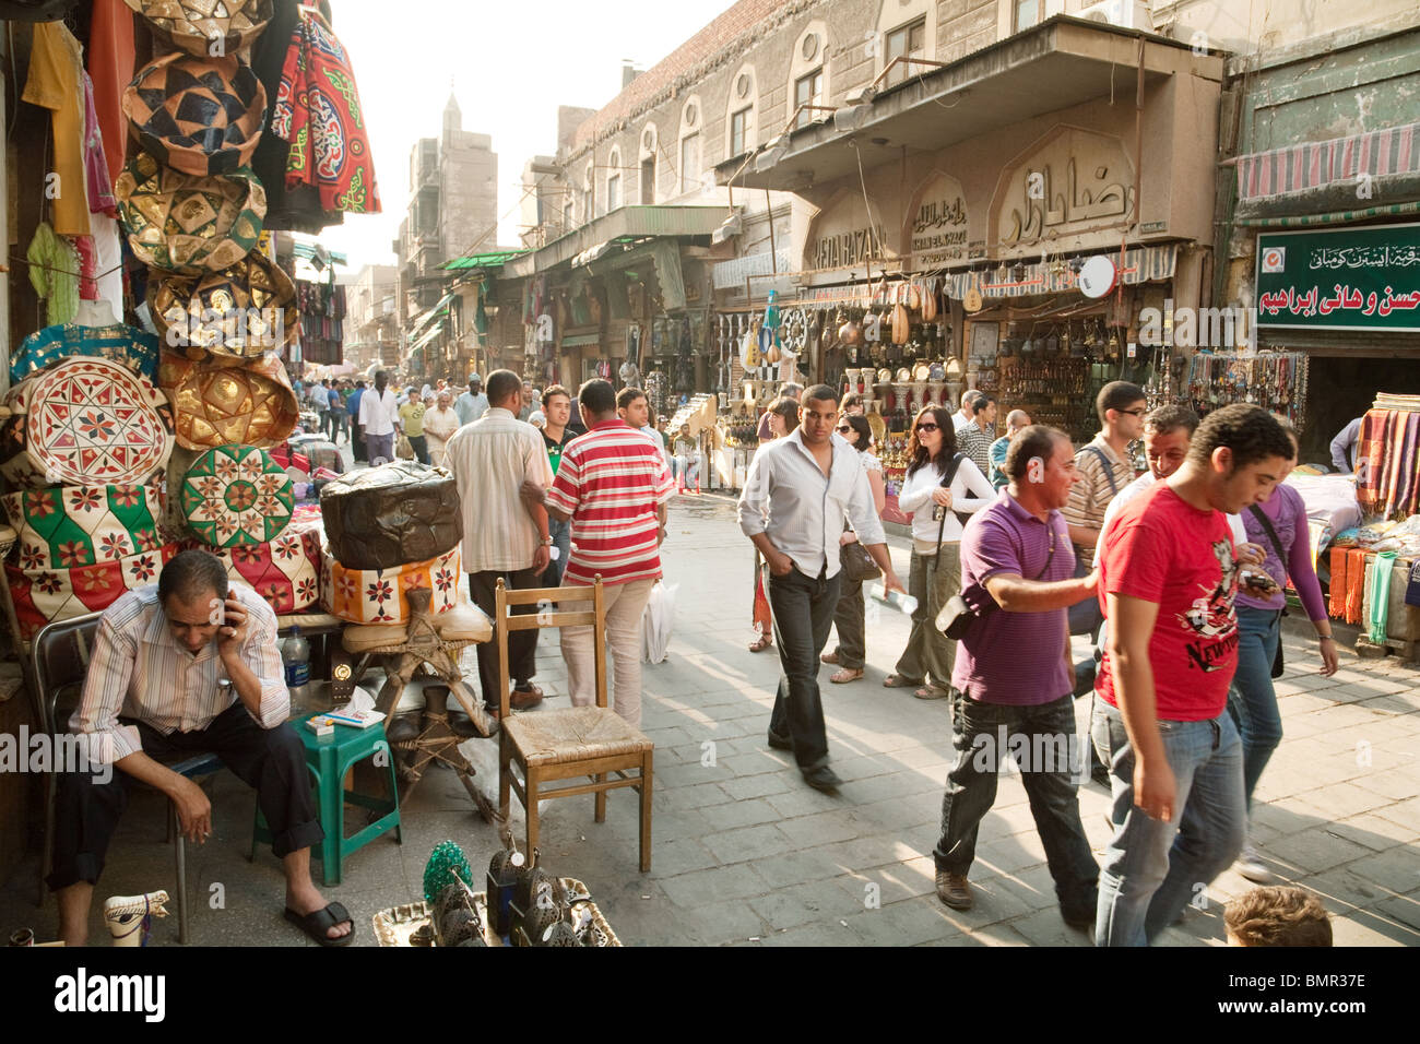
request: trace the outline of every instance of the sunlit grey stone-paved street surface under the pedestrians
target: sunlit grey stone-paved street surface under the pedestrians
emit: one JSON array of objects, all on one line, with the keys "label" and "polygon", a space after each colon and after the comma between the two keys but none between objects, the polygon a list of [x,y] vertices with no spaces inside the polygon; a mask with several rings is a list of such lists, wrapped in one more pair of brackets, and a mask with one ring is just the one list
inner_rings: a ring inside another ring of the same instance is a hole
[{"label": "sunlit grey stone-paved street surface under the pedestrians", "polygon": [[[893,540],[907,571],[907,544]],[[670,656],[645,668],[643,727],[656,741],[653,869],[636,871],[636,797],[613,793],[605,824],[592,798],[544,811],[548,868],[586,882],[628,945],[994,945],[1086,946],[1054,902],[1020,778],[1004,774],[981,824],[971,882],[976,908],[944,908],[933,891],[941,787],[950,756],[943,700],[923,702],[882,679],[902,651],[907,619],[870,602],[868,675],[829,685],[821,672],[839,795],[808,788],[792,758],[764,741],[778,680],[772,652],[751,653],[751,550],[728,500],[680,497],[665,545],[676,587]],[[831,639],[832,645],[832,639]],[[1315,646],[1287,638],[1278,685],[1285,739],[1257,795],[1252,835],[1281,881],[1321,893],[1338,945],[1420,943],[1420,695],[1414,669],[1343,652],[1331,679],[1314,673]],[[555,635],[540,646],[547,707],[567,706]],[[477,685],[474,682],[474,685]],[[1089,700],[1076,705],[1088,722]],[[538,712],[530,712],[538,713]],[[491,750],[491,743],[487,744]],[[494,770],[496,771],[496,770]],[[491,778],[491,773],[488,778]],[[1109,827],[1108,791],[1079,791],[1096,857]],[[270,852],[247,862],[251,797],[217,777],[217,838],[193,851],[193,940],[300,945],[280,919],[281,878]],[[356,913],[358,942],[372,945],[369,916],[420,898],[430,848],[460,842],[476,868],[496,835],[447,771],[429,774],[403,807],[403,844],[382,838],[346,859],[328,889]],[[0,891],[0,923],[36,925],[54,905],[33,905],[34,861]],[[220,889],[217,888],[220,885]],[[119,830],[99,895],[172,889],[162,808],[139,795]],[[1223,903],[1250,888],[1233,872],[1207,891],[1164,945],[1221,945]],[[222,909],[212,909],[220,892]],[[95,920],[95,928],[98,922]],[[98,928],[102,932],[101,928]],[[176,918],[156,942],[176,939]]]}]

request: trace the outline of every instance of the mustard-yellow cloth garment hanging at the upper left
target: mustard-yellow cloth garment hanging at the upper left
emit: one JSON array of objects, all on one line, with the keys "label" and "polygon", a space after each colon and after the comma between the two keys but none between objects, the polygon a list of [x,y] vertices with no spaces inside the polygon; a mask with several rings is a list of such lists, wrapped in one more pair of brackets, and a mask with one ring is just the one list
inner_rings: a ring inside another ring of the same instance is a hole
[{"label": "mustard-yellow cloth garment hanging at the upper left", "polygon": [[[58,183],[45,180],[50,219],[61,236],[88,236],[89,209],[84,176],[84,72],[80,41],[62,21],[44,21],[34,27],[30,53],[30,78],[23,99],[50,109],[54,131],[54,173]],[[51,320],[51,322],[55,320]]]}]

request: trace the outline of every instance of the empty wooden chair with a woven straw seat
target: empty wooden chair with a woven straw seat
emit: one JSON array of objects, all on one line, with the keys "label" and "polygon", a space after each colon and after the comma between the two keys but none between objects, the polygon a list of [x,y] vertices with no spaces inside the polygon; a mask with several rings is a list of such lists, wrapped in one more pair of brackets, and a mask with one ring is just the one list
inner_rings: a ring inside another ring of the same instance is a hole
[{"label": "empty wooden chair with a woven straw seat", "polygon": [[[578,592],[582,594],[582,592]],[[602,602],[601,577],[585,588],[581,602],[591,601],[591,611],[564,612],[542,609],[537,614],[508,612],[514,605],[551,604],[568,598],[567,588],[530,588],[508,591],[498,581],[494,631],[498,638],[498,692],[501,693],[503,730],[498,743],[498,811],[508,817],[508,793],[517,791],[527,812],[527,851],[537,847],[538,801],[557,797],[595,794],[596,822],[606,821],[606,791],[632,787],[640,793],[640,872],[650,871],[650,788],[652,750],[655,744],[632,729],[606,706],[606,609]],[[558,707],[511,714],[508,709],[508,632],[540,628],[592,626],[596,662],[596,706]],[[523,778],[513,773],[517,766]],[[588,777],[589,783],[547,787],[559,780]],[[615,777],[615,778],[613,778]]]}]

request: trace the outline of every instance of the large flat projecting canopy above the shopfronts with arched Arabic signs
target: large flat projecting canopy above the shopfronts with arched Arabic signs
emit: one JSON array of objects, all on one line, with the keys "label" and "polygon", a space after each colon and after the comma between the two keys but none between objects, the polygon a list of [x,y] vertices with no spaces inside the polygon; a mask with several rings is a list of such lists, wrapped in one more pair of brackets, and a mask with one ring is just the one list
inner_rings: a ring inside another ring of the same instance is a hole
[{"label": "large flat projecting canopy above the shopfronts with arched Arabic signs", "polygon": [[[858,178],[859,162],[900,162],[903,148],[936,152],[1093,98],[1113,95],[1133,108],[1139,40],[1145,40],[1145,82],[1176,78],[1187,43],[1066,16],[1047,18],[990,47],[897,87],[822,124],[771,139],[757,155],[716,168],[719,185],[802,192],[812,185]],[[1193,74],[1223,80],[1223,58],[1194,57]],[[852,129],[839,129],[842,122]],[[774,134],[778,128],[767,128]],[[741,169],[743,168],[743,169]]]}]

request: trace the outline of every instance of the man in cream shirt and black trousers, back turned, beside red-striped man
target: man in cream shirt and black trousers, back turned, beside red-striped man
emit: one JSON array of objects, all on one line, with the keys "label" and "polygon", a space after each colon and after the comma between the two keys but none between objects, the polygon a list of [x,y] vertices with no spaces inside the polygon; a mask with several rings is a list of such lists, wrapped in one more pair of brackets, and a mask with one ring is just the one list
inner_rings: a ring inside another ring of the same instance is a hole
[{"label": "man in cream shirt and black trousers, back turned, beside red-striped man", "polygon": [[[523,483],[545,487],[552,477],[542,436],[532,425],[517,419],[521,399],[518,375],[511,369],[493,371],[488,374],[487,412],[454,432],[444,447],[463,509],[463,565],[469,572],[469,595],[490,619],[497,611],[498,580],[514,591],[538,587],[551,557],[547,509],[521,496]],[[537,612],[537,607],[520,605],[514,612]],[[537,631],[508,635],[514,710],[542,702],[542,690],[532,685],[535,655]],[[496,642],[479,646],[479,680],[484,705],[497,714],[503,695],[498,692]]]}]

